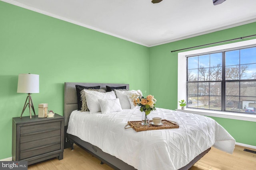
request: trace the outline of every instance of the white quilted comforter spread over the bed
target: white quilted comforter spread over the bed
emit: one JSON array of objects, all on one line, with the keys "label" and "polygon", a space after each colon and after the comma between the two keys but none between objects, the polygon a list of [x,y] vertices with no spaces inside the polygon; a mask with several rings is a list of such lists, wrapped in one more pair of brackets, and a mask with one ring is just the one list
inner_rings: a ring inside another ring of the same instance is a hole
[{"label": "white quilted comforter spread over the bed", "polygon": [[204,150],[214,146],[232,153],[234,138],[216,121],[202,115],[156,108],[150,117],[179,123],[179,129],[136,132],[124,129],[128,121],[139,121],[139,109],[90,114],[73,111],[67,133],[116,156],[138,170],[176,170]]}]

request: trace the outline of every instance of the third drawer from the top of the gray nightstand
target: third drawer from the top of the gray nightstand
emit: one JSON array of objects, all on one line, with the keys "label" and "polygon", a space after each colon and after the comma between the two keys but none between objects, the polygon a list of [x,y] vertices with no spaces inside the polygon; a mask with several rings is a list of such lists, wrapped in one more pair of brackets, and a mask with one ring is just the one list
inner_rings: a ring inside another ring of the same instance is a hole
[{"label": "third drawer from the top of the gray nightstand", "polygon": [[21,143],[20,151],[33,149],[36,147],[42,147],[44,145],[49,145],[51,143],[60,143],[60,135],[54,136],[54,137],[48,137],[48,138],[44,138],[44,139],[40,139],[40,140],[36,140],[36,141]]}]

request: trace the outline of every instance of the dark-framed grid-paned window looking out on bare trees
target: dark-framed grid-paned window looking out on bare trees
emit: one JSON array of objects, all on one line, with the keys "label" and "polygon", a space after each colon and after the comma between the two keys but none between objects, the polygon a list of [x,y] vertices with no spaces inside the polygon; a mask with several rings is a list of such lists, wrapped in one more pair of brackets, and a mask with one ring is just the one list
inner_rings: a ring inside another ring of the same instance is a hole
[{"label": "dark-framed grid-paned window looking out on bare trees", "polygon": [[187,107],[256,114],[256,47],[187,57]]}]

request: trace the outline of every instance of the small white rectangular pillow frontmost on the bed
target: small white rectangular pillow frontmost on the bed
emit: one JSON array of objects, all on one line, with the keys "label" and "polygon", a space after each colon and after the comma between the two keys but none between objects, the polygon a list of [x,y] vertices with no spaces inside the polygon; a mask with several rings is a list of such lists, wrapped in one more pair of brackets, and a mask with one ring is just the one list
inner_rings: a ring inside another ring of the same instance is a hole
[{"label": "small white rectangular pillow frontmost on the bed", "polygon": [[98,99],[100,102],[101,113],[110,113],[114,111],[122,111],[122,107],[118,98],[116,99]]}]

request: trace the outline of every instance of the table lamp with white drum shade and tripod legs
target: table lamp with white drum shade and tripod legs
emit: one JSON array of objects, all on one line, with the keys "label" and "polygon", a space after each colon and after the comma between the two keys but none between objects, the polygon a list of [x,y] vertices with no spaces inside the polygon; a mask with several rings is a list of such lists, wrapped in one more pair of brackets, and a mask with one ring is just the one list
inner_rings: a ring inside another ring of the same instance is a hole
[{"label": "table lamp with white drum shade and tripod legs", "polygon": [[[19,74],[18,77],[18,88],[17,93],[26,93],[28,94],[26,98],[26,102],[23,106],[20,118],[24,113],[26,107],[29,107],[30,119],[31,119],[31,109],[34,112],[34,116],[36,116],[34,105],[32,102],[32,98],[30,94],[39,93],[39,75],[37,74]],[[28,101],[28,103],[27,103]]]}]

